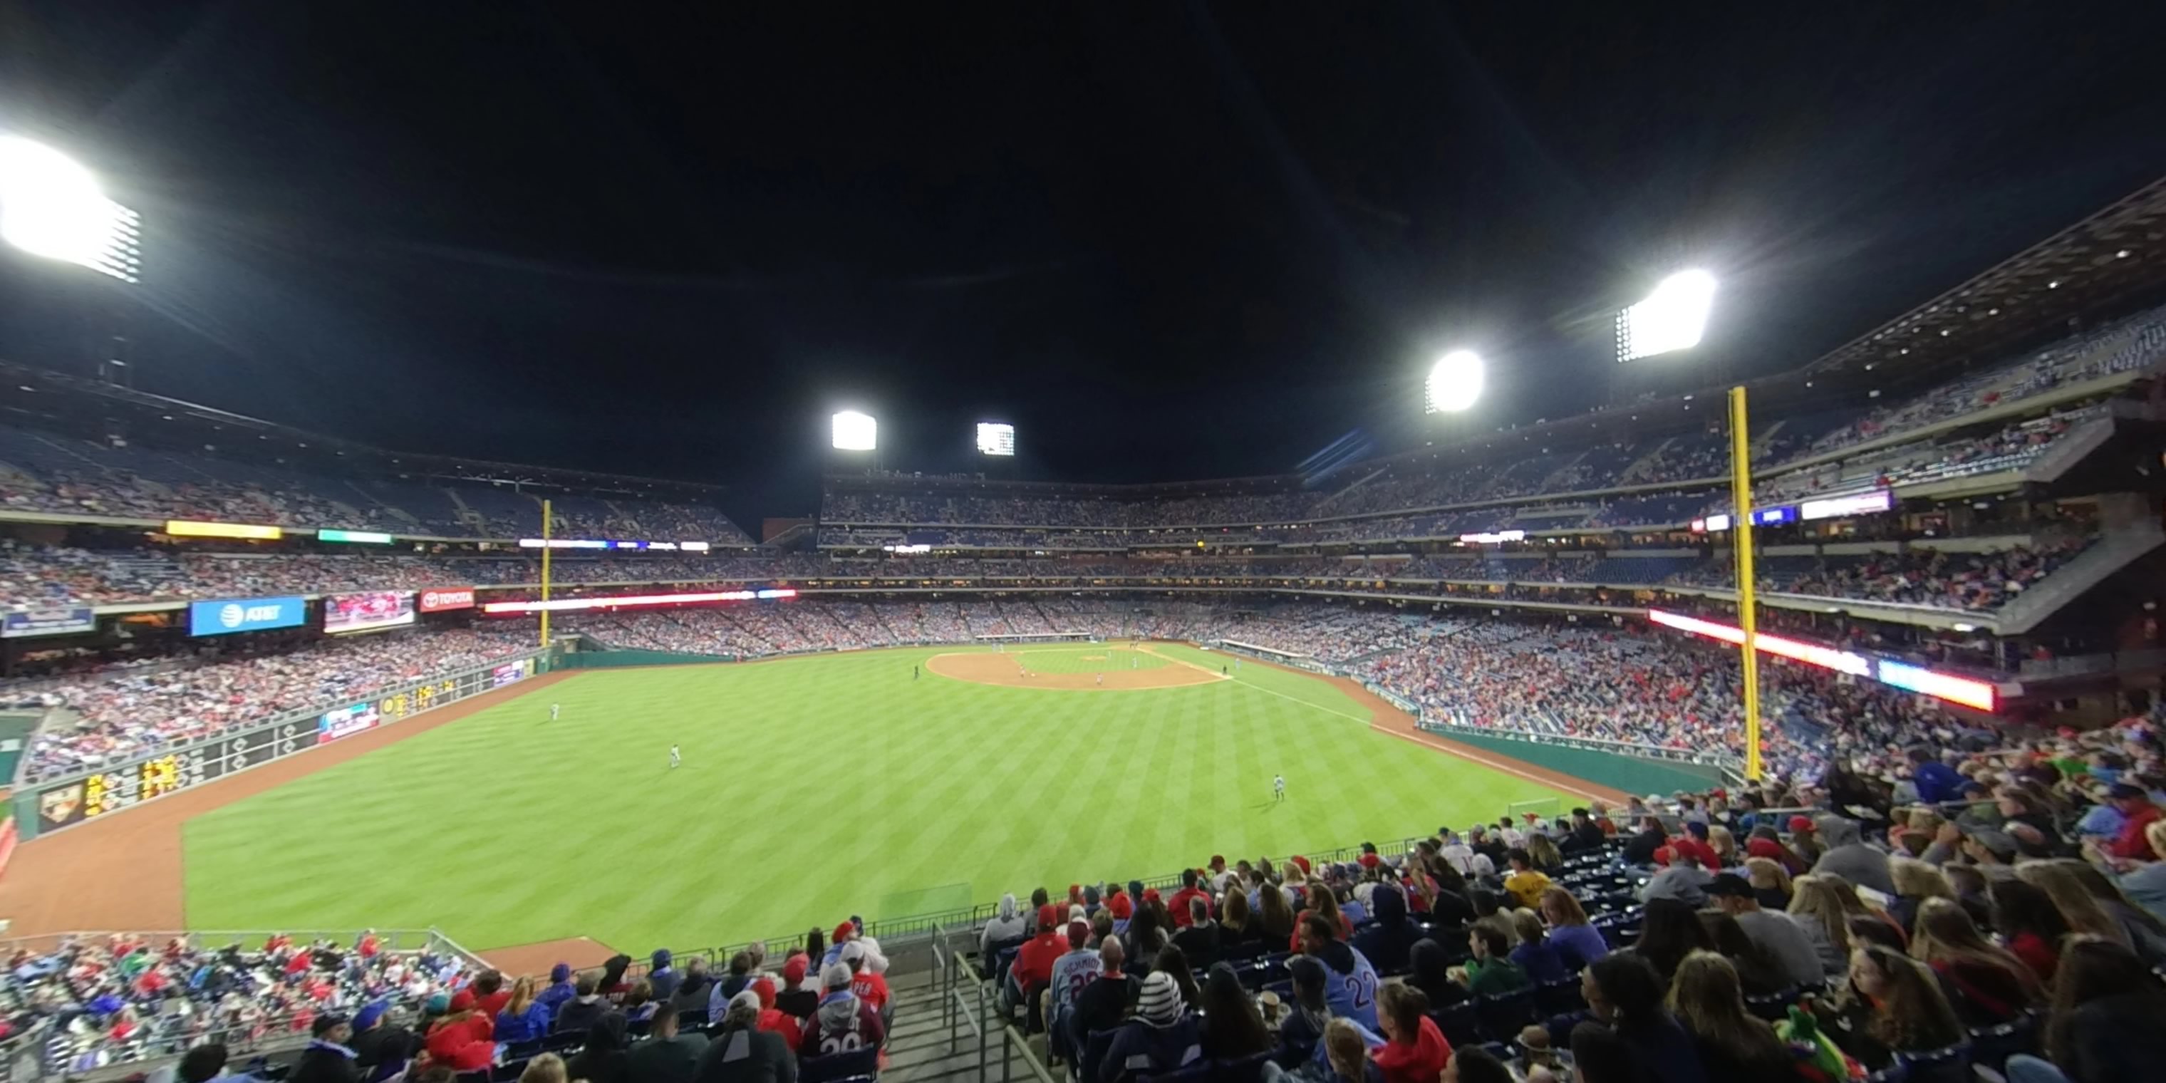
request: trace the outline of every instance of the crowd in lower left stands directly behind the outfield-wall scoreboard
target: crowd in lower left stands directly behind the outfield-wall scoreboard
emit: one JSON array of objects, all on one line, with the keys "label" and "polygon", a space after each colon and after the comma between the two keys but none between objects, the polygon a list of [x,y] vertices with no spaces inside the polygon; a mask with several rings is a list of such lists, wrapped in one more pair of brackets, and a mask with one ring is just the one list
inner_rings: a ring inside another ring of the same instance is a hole
[{"label": "crowd in lower left stands directly behind the outfield-wall scoreboard", "polygon": [[193,743],[286,710],[533,650],[509,628],[314,639],[273,654],[210,654],[0,682],[11,702],[56,708],[24,749],[26,780],[58,778]]}]

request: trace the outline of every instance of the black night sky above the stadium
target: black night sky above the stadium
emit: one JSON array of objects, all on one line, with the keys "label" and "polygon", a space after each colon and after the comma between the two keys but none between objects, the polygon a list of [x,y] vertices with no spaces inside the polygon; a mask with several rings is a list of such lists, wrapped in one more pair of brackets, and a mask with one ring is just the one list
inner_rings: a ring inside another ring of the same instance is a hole
[{"label": "black night sky above the stadium", "polygon": [[1165,481],[1802,364],[2166,173],[2162,9],[0,0],[0,128],[145,212],[141,388],[752,520],[845,405]]}]

